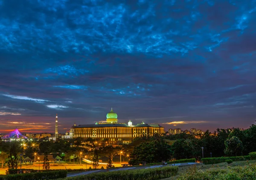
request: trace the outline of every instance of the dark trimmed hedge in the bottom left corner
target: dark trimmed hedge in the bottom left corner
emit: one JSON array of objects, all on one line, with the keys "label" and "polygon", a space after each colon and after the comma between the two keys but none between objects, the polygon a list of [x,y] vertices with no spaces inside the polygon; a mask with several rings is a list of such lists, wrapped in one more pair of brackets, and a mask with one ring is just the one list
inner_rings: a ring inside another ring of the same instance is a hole
[{"label": "dark trimmed hedge in the bottom left corner", "polygon": [[9,174],[2,177],[2,180],[55,180],[67,177],[67,171],[32,172],[24,174]]}]

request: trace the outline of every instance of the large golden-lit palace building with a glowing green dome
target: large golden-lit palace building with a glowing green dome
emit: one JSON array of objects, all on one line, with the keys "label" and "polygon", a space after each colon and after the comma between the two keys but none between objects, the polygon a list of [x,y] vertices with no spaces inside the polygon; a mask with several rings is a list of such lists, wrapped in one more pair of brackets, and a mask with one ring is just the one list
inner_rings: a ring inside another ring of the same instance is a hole
[{"label": "large golden-lit palace building with a glowing green dome", "polygon": [[125,123],[118,123],[117,114],[111,111],[107,114],[107,119],[103,123],[96,124],[76,124],[70,129],[73,132],[74,138],[93,138],[97,141],[105,141],[108,143],[131,143],[134,138],[143,135],[152,136],[154,134],[164,133],[163,127],[158,124],[141,124],[132,125],[129,121],[128,125]]}]

